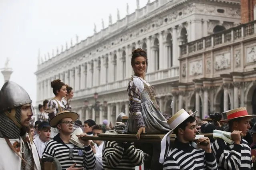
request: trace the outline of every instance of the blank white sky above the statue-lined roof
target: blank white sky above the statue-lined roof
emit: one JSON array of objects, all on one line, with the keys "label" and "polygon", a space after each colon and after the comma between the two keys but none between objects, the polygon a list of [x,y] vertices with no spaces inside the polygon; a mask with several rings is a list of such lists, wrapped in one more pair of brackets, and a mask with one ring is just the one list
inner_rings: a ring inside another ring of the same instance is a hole
[{"label": "blank white sky above the statue-lined roof", "polygon": [[[151,0],[152,2],[153,0]],[[0,0],[0,68],[9,57],[9,66],[13,73],[10,81],[21,85],[36,101],[36,76],[38,49],[41,56],[47,52],[56,54],[61,45],[71,38],[76,42],[93,35],[94,23],[97,32],[101,30],[101,18],[105,28],[112,14],[113,23],[117,20],[117,8],[120,18],[126,15],[126,3],[129,13],[135,11],[136,0]],[[147,0],[140,0],[140,7]],[[0,73],[0,87],[4,78]]]}]

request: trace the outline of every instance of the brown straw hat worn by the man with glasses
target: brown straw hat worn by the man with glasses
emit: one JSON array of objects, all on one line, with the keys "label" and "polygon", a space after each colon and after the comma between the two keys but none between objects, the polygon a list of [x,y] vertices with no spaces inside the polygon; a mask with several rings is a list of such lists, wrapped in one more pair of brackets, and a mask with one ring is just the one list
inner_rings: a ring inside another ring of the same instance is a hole
[{"label": "brown straw hat worn by the man with glasses", "polygon": [[78,114],[75,112],[71,112],[71,111],[61,111],[59,113],[56,113],[56,116],[54,116],[50,120],[50,126],[56,127],[58,125],[58,122],[61,119],[68,118],[68,117],[71,118],[75,122],[78,119]]}]

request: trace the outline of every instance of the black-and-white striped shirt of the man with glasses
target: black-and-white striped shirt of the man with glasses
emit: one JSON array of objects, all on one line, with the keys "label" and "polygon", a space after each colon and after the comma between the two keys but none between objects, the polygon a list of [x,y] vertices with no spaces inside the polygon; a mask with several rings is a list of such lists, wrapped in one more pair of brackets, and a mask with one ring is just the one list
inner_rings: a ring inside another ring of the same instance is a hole
[{"label": "black-and-white striped shirt of the man with glasses", "polygon": [[[93,154],[93,151],[91,150],[90,146],[79,148],[74,145],[73,147],[73,158],[69,157],[69,151],[70,147],[65,144],[58,133],[56,136],[54,136],[53,140],[48,142],[46,145],[42,158],[52,156],[54,158],[57,158],[60,162],[61,168],[66,169],[72,166],[73,164],[77,163],[75,168],[95,168],[95,161],[92,161],[90,164],[85,164],[85,159],[93,159],[95,155]],[[95,159],[93,159],[95,160]]]}]

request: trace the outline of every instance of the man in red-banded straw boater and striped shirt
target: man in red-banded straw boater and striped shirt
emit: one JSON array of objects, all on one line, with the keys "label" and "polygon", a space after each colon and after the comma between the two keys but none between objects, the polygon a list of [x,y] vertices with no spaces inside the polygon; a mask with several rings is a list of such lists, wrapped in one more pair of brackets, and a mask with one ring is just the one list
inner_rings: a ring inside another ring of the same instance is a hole
[{"label": "man in red-banded straw boater and striped shirt", "polygon": [[220,138],[212,144],[219,170],[253,170],[251,148],[241,135],[246,136],[250,128],[250,119],[255,115],[248,115],[246,108],[240,107],[222,113],[222,117],[226,129],[232,132],[234,144],[228,144]]}]

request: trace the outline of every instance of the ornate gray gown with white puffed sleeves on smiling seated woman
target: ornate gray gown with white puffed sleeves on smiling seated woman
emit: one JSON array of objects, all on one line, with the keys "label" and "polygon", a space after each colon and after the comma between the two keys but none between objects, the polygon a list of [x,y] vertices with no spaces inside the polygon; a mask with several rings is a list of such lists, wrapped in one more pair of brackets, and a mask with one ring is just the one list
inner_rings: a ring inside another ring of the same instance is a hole
[{"label": "ornate gray gown with white puffed sleeves on smiling seated woman", "polygon": [[153,86],[141,77],[132,76],[127,91],[130,105],[125,133],[137,133],[140,127],[145,127],[147,134],[165,134],[171,130],[167,123],[170,117],[160,112]]}]

